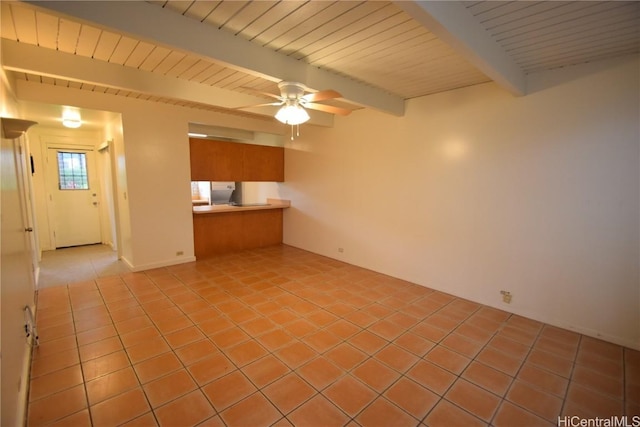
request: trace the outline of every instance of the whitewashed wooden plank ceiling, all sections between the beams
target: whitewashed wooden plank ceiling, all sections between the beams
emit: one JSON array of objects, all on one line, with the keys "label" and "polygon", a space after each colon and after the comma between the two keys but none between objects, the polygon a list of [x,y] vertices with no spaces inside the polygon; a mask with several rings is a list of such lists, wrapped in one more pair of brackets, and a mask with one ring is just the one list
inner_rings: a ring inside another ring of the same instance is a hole
[{"label": "whitewashed wooden plank ceiling, all sections between the beams", "polygon": [[[403,99],[489,81],[394,2],[149,1],[168,13],[229,32],[297,61]],[[640,50],[640,3],[470,1],[462,3],[524,73]],[[216,58],[132,37],[21,2],[1,2],[4,39],[92,58],[192,83],[248,93],[278,93],[277,81]],[[207,43],[203,40],[202,43]],[[17,73],[17,78],[216,109],[198,102],[76,79]],[[327,88],[317,88],[327,89]],[[356,109],[348,100],[334,105]],[[243,114],[234,111],[234,114]]]}]

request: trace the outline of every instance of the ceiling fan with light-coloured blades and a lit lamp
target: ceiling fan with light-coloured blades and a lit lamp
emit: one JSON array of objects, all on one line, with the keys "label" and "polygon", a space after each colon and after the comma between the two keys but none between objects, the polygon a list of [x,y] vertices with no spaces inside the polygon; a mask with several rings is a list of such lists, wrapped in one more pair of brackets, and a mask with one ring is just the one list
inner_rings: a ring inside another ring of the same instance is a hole
[{"label": "ceiling fan with light-coloured blades and a lit lamp", "polygon": [[[326,101],[328,99],[341,98],[342,95],[335,90],[323,90],[320,92],[310,92],[309,89],[302,83],[282,81],[278,83],[278,89],[280,89],[280,95],[274,95],[269,92],[256,91],[249,89],[253,92],[260,93],[262,95],[275,98],[277,102],[269,102],[266,104],[248,105],[245,107],[238,107],[237,109],[253,108],[253,107],[266,107],[266,106],[281,106],[276,113],[275,117],[280,122],[296,126],[309,120],[309,113],[306,109],[323,111],[325,113],[339,114],[341,116],[347,116],[351,113],[351,110],[346,108],[335,107],[333,105],[318,104],[319,101]],[[292,129],[293,132],[293,129]],[[293,136],[292,136],[293,139]]]}]

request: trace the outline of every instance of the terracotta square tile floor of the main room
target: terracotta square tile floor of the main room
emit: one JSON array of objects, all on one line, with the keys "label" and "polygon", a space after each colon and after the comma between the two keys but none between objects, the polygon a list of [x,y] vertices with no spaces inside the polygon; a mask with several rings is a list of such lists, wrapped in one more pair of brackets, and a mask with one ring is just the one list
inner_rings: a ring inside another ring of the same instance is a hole
[{"label": "terracotta square tile floor of the main room", "polygon": [[640,415],[638,351],[288,246],[41,289],[37,324],[29,426]]}]

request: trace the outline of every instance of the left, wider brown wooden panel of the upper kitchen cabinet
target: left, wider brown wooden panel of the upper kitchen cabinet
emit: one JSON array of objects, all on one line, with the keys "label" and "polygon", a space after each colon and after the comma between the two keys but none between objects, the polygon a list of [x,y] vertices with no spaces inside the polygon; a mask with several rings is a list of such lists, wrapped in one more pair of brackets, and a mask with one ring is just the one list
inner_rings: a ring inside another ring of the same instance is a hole
[{"label": "left, wider brown wooden panel of the upper kitchen cabinet", "polygon": [[243,145],[190,138],[192,181],[243,181]]}]

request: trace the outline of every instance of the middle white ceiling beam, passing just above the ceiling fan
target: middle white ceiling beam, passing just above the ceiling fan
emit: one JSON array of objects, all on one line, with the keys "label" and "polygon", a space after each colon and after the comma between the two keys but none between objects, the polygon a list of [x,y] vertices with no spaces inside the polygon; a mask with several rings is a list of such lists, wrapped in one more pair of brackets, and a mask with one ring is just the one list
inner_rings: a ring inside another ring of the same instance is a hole
[{"label": "middle white ceiling beam, passing just above the ceiling fan", "polygon": [[353,104],[396,116],[404,99],[264,48],[226,31],[142,1],[26,1],[93,25],[190,52],[275,82],[296,81],[316,90],[333,89]]}]

